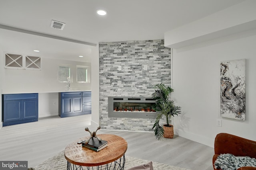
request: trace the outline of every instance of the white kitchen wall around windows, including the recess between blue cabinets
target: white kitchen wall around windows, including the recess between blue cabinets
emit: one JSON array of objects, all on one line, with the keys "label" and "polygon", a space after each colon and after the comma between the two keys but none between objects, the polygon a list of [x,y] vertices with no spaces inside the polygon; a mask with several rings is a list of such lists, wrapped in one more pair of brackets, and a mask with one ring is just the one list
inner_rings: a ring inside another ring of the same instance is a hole
[{"label": "white kitchen wall around windows, including the recess between blue cabinets", "polygon": [[[3,65],[3,54],[4,53],[1,53],[2,63],[0,63],[1,92],[3,94],[38,93],[38,117],[58,115],[58,92],[66,91],[68,89],[65,87],[67,86],[67,83],[61,83],[57,80],[59,64],[70,65],[71,89],[91,90],[91,82],[76,82],[76,65],[90,66],[91,64],[88,62],[42,58],[41,70],[5,69]],[[1,107],[2,104],[0,108]]]}]

